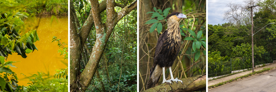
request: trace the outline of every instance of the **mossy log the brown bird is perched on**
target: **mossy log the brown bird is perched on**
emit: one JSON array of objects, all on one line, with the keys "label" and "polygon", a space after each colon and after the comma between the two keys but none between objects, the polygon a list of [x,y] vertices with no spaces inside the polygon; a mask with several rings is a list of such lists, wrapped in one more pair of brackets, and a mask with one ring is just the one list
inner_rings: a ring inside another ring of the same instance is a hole
[{"label": "mossy log the brown bird is perched on", "polygon": [[191,92],[206,90],[206,74],[182,78],[180,80],[182,80],[183,84],[180,82],[173,82],[172,84],[166,82],[143,92]]}]

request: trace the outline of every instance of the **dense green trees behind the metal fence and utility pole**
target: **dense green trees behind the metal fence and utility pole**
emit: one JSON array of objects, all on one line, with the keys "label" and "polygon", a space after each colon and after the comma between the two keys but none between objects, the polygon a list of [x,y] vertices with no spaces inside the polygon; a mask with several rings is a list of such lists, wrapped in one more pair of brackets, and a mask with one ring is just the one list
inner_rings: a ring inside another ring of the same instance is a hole
[{"label": "dense green trees behind the metal fence and utility pole", "polygon": [[[273,60],[276,60],[276,25],[269,24],[276,22],[275,2],[272,0],[265,0],[258,2],[258,4],[260,6],[258,7],[258,10],[255,11],[255,16],[253,15],[255,65],[272,63]],[[246,18],[248,17],[241,18],[240,20],[247,20]],[[247,20],[247,22],[251,22],[251,20]],[[263,28],[264,26],[266,27]],[[217,69],[209,69],[210,72],[226,70],[225,65],[222,64],[226,64],[230,60],[234,61],[232,62],[232,67],[242,67],[239,69],[252,68],[251,25],[249,24],[246,25],[241,23],[237,25],[229,22],[218,25],[208,25],[208,47],[208,63],[216,63],[219,65],[217,66]]]}]

